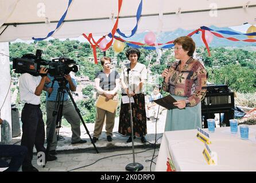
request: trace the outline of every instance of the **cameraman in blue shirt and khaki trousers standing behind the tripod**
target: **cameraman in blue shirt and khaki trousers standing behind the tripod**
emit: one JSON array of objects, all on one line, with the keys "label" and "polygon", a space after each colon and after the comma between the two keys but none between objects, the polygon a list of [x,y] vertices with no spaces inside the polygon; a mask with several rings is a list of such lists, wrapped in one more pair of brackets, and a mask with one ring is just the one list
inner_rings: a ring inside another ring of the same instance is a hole
[{"label": "cameraman in blue shirt and khaki trousers standing behind the tripod", "polygon": [[[63,59],[61,59],[63,58]],[[60,57],[60,61],[64,62],[65,59],[68,59],[67,57]],[[51,82],[45,85],[44,90],[48,93],[51,93],[51,96],[48,97],[48,94],[46,94],[46,136],[48,138],[49,132],[51,129],[51,123],[52,123],[52,116],[53,111],[55,110],[55,104],[57,100],[57,93],[59,89],[59,83],[54,82],[53,87],[52,82],[54,77],[51,74],[48,74],[48,77],[51,79]],[[76,91],[76,81],[75,79],[71,78],[69,74],[64,75],[64,81],[67,81],[67,84],[65,85],[68,87],[72,92]],[[86,140],[82,140],[80,138],[80,117],[77,114],[75,107],[73,106],[72,102],[69,99],[67,91],[64,90],[64,99],[63,99],[63,111],[62,115],[65,117],[65,119],[68,121],[69,124],[71,124],[71,131],[72,131],[72,138],[71,138],[71,144],[83,144],[86,143]],[[60,103],[61,104],[61,103]],[[55,124],[56,125],[56,124]],[[53,134],[52,143],[49,148],[49,153],[52,155],[56,155],[56,147],[57,147],[57,137],[56,133]]]}]

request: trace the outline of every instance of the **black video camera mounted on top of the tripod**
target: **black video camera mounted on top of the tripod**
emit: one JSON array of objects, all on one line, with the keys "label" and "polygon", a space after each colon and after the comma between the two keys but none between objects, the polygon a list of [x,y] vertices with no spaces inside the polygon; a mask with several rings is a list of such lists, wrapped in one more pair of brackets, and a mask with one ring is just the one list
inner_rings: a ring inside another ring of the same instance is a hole
[{"label": "black video camera mounted on top of the tripod", "polygon": [[68,57],[55,58],[49,63],[48,73],[55,77],[63,77],[64,74],[69,74],[71,71],[76,73],[78,67],[75,64],[76,61]]}]

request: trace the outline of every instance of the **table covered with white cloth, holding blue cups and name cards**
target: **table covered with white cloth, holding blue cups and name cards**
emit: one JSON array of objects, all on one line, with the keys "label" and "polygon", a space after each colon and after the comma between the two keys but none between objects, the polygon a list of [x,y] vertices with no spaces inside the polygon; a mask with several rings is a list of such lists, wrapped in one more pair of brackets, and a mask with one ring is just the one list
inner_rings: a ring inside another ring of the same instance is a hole
[{"label": "table covered with white cloth, holding blue cups and name cards", "polygon": [[217,165],[208,165],[204,160],[204,143],[196,134],[197,130],[165,132],[156,171],[166,171],[168,157],[176,171],[256,171],[256,125],[249,126],[249,140],[241,140],[239,126],[236,135],[230,133],[230,127],[215,128],[215,133],[210,133],[209,147],[218,155]]}]

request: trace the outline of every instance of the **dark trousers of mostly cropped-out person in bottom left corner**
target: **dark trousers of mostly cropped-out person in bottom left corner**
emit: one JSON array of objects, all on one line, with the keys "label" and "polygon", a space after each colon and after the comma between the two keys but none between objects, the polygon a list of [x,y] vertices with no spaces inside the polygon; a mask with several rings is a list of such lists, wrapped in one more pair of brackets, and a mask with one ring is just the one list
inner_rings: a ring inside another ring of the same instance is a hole
[{"label": "dark trousers of mostly cropped-out person in bottom left corner", "polygon": [[9,166],[5,172],[17,172],[22,165],[27,152],[28,149],[25,146],[7,144],[0,145],[0,157],[11,158],[9,165],[5,161],[0,161],[0,167]]}]

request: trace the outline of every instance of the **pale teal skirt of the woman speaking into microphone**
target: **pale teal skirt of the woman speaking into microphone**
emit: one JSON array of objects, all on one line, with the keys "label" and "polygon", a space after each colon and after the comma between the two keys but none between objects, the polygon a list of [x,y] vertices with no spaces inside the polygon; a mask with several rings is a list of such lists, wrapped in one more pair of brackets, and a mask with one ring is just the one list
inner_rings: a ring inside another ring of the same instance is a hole
[{"label": "pale teal skirt of the woman speaking into microphone", "polygon": [[[187,97],[173,96],[177,101],[186,100]],[[184,109],[167,110],[165,121],[165,132],[173,130],[189,130],[202,127],[201,124],[201,102],[193,107]]]}]

